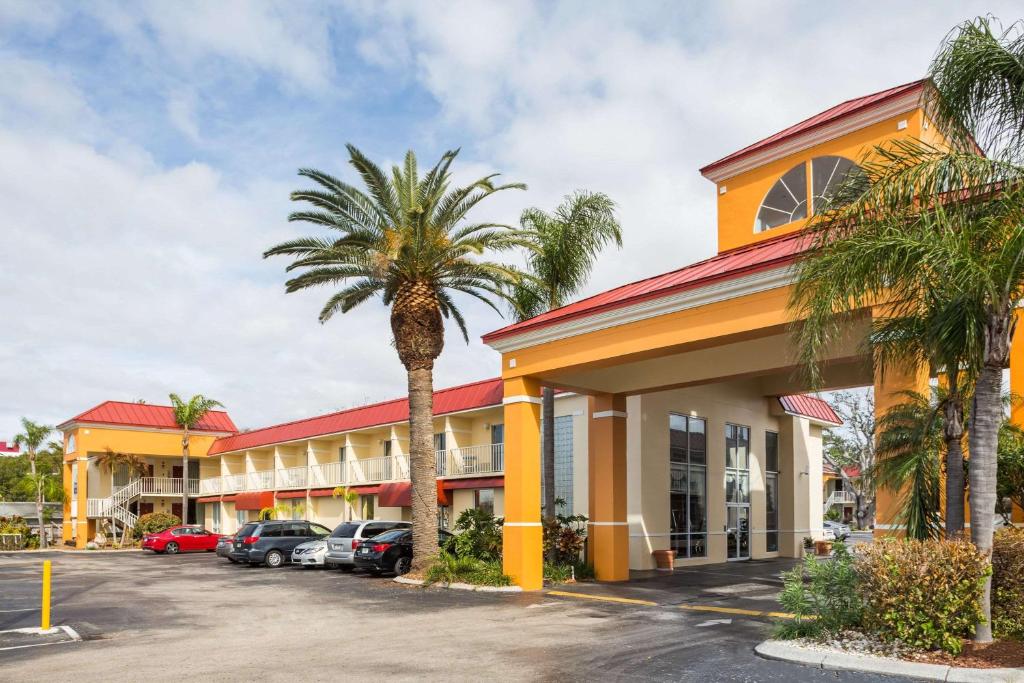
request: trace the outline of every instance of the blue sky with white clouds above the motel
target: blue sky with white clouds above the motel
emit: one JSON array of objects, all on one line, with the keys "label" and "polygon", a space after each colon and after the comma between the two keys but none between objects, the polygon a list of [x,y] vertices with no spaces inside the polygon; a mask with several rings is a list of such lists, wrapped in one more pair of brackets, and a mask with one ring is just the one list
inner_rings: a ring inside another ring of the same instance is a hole
[{"label": "blue sky with white clouds above the motel", "polygon": [[[460,148],[521,181],[475,219],[587,188],[625,232],[581,296],[715,252],[697,169],[921,78],[956,24],[1015,2],[0,0],[0,439],[106,399],[223,402],[242,428],[402,395],[379,302],[321,325],[279,242],[300,168],[352,179]],[[514,257],[513,257],[514,258]],[[462,302],[435,386],[496,376]]]}]

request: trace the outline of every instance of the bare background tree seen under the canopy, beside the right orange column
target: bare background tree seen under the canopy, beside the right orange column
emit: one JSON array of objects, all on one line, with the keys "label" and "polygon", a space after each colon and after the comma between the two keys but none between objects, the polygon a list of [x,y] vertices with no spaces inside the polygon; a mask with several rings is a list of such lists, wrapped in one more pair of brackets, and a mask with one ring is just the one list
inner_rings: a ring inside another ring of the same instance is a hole
[{"label": "bare background tree seen under the canopy, beside the right orange column", "polygon": [[[843,420],[841,429],[824,433],[822,456],[843,480],[855,500],[857,528],[874,519],[874,399],[869,393],[838,391],[830,400]],[[857,471],[851,476],[848,468]]]}]

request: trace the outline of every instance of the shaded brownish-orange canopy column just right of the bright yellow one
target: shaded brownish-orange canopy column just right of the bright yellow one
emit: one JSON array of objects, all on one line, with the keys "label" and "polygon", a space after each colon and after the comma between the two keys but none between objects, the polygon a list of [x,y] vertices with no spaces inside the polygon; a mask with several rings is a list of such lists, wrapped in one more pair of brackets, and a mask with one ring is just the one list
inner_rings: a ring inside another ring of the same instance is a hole
[{"label": "shaded brownish-orange canopy column just right of the bright yellow one", "polygon": [[590,396],[590,561],[598,581],[630,578],[630,529],[626,519],[626,397]]}]

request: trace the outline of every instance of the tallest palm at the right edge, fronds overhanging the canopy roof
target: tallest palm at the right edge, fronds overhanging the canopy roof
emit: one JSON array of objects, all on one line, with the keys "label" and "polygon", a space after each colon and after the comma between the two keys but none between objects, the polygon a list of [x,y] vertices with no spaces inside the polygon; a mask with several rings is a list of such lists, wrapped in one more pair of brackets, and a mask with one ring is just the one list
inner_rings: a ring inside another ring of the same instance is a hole
[{"label": "tallest palm at the right edge, fronds overhanging the canopy roof", "polygon": [[[980,348],[970,358],[971,540],[990,555],[1002,370],[1024,299],[1024,25],[956,27],[929,75],[928,110],[949,144],[898,140],[865,156],[864,177],[813,221],[793,305],[806,318],[798,344],[812,378],[839,318],[856,308],[881,300],[912,316],[932,306],[940,339],[968,321]],[[990,587],[978,642],[991,640]]]}]

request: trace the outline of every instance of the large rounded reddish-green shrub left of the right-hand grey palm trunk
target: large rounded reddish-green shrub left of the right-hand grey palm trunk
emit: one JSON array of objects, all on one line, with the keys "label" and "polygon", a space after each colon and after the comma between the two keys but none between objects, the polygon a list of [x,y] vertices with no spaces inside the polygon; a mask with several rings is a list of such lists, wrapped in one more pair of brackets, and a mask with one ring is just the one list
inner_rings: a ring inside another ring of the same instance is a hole
[{"label": "large rounded reddish-green shrub left of the right-hand grey palm trunk", "polygon": [[967,541],[880,541],[857,562],[863,625],[883,640],[959,654],[982,617],[988,566]]}]

